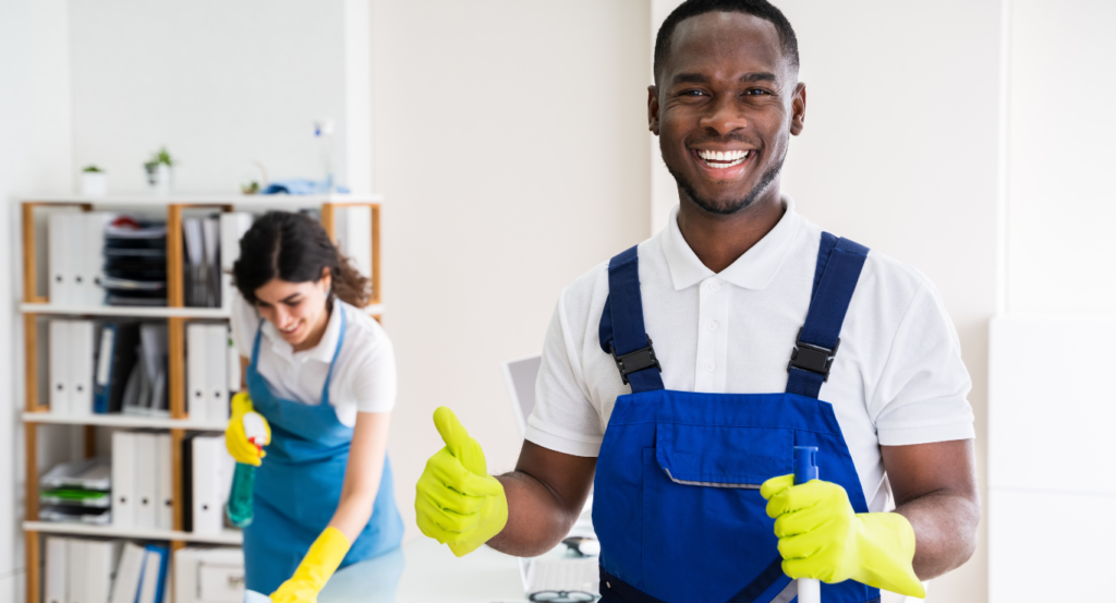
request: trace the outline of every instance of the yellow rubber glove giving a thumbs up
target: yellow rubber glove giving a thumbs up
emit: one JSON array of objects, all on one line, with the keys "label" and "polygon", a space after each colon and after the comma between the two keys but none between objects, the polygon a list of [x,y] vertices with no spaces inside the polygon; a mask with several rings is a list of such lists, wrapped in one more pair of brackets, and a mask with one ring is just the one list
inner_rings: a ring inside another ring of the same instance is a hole
[{"label": "yellow rubber glove giving a thumbs up", "polygon": [[445,448],[426,461],[415,487],[419,529],[461,557],[496,536],[508,523],[503,485],[488,475],[484,451],[453,411],[434,411]]}]

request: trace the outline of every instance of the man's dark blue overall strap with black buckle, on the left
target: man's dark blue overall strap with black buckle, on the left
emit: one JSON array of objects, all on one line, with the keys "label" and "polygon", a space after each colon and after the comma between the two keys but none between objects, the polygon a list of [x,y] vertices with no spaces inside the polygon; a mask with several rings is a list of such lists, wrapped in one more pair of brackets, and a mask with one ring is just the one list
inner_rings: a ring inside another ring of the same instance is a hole
[{"label": "man's dark blue overall strap with black buckle, on the left", "polygon": [[608,261],[608,298],[600,315],[600,348],[613,355],[632,393],[663,389],[662,367],[643,324],[638,246]]}]

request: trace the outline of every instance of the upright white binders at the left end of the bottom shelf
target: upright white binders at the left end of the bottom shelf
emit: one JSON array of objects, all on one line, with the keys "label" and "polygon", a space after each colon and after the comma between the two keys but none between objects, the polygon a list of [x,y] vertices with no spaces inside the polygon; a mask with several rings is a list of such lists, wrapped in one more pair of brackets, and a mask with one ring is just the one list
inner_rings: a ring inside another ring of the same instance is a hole
[{"label": "upright white binders at the left end of the bottom shelf", "polygon": [[48,536],[46,540],[44,603],[108,601],[113,570],[121,556],[119,540],[58,536]]}]

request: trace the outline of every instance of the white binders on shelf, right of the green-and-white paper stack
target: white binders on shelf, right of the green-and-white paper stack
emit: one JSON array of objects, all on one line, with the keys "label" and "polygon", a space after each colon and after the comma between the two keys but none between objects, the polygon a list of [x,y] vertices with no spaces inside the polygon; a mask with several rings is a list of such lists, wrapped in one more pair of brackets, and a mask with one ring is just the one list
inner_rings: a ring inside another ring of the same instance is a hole
[{"label": "white binders on shelf, right of the green-and-white paper stack", "polygon": [[172,529],[174,509],[171,434],[113,433],[113,525]]}]

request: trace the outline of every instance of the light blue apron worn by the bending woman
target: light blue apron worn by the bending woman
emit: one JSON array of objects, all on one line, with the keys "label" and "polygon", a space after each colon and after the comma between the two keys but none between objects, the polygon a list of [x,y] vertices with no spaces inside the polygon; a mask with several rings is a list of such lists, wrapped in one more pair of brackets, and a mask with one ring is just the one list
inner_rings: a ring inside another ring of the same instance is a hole
[{"label": "light blue apron worn by the bending woman", "polygon": [[[252,406],[271,425],[268,456],[256,471],[254,518],[244,528],[246,583],[259,593],[275,592],[295,573],[340,501],[353,428],[341,424],[329,404],[329,382],[346,327],[345,308],[337,304],[334,310],[341,313],[340,335],[317,405],[283,400],[271,392],[257,368],[263,320],[256,334],[246,381]],[[345,555],[341,567],[400,546],[403,520],[392,490],[392,466],[385,458],[372,518]]]}]

